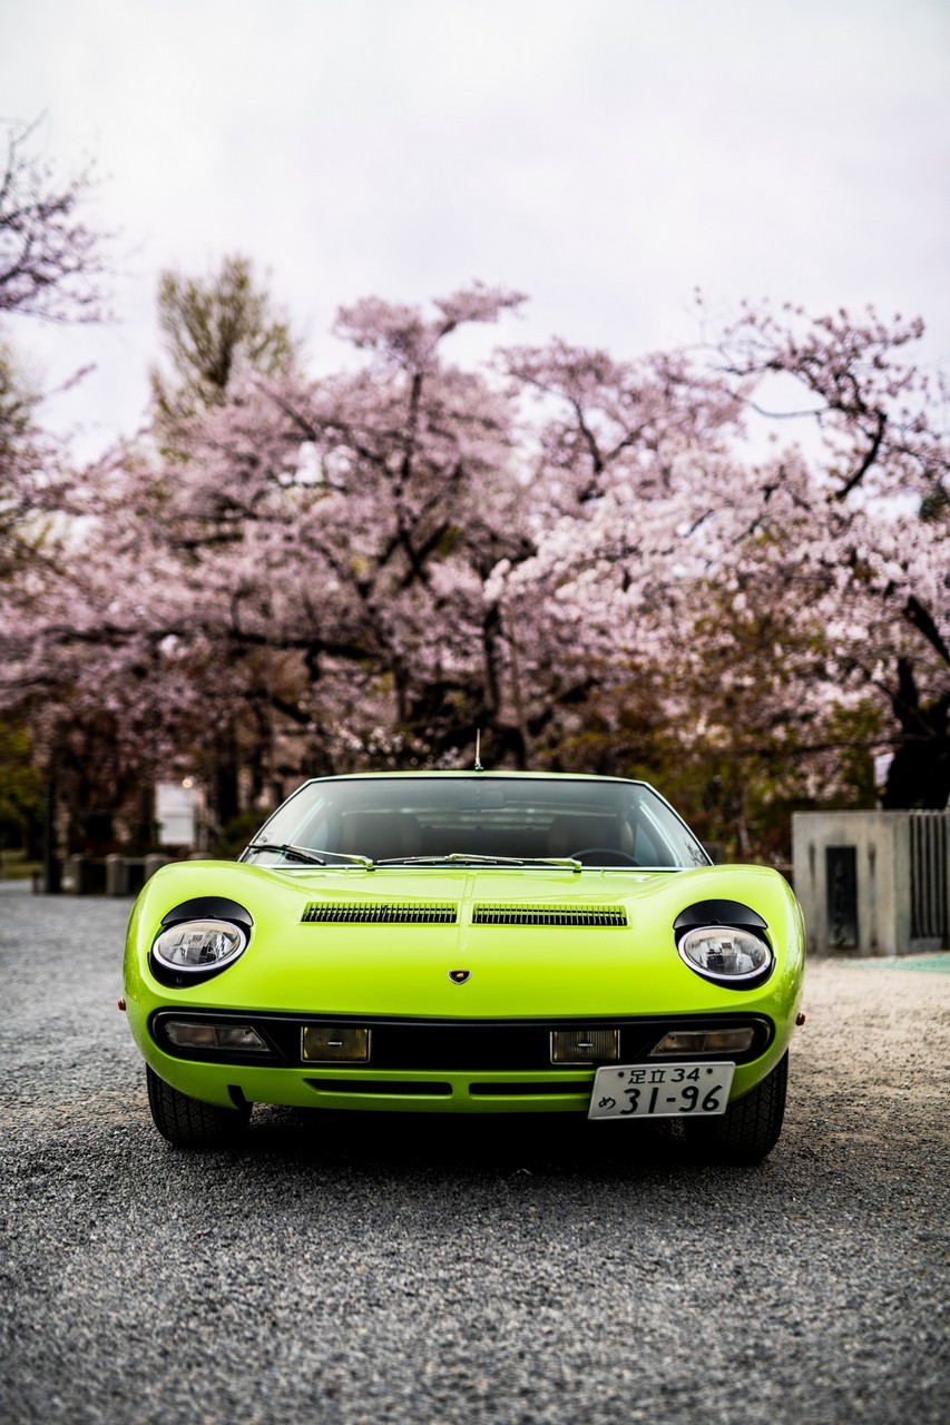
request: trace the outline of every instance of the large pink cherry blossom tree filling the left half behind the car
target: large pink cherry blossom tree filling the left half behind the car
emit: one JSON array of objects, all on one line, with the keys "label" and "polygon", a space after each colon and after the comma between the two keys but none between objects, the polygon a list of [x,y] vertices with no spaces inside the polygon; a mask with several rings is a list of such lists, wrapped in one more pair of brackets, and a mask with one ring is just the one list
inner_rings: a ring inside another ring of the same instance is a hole
[{"label": "large pink cherry blossom tree filling the left half behind the car", "polygon": [[[310,385],[245,370],[180,422],[174,457],[100,472],[54,594],[68,607],[23,626],[20,683],[71,667],[120,740],[147,707],[155,754],[197,755],[213,787],[235,760],[260,788],[367,745],[438,757],[459,722],[474,740],[498,658],[481,589],[519,547],[521,490],[508,402],[439,348],[515,304],[484,288],[428,319],[362,304],[339,331],[364,369]],[[235,802],[214,799],[224,824]]]}]

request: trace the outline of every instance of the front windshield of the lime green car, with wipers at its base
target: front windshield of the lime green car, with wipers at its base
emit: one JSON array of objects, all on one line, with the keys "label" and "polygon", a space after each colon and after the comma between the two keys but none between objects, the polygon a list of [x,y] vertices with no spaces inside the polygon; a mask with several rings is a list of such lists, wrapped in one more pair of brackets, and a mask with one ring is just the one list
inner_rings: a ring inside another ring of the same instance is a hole
[{"label": "front windshield of the lime green car, with wipers at its base", "polygon": [[[337,859],[338,858],[338,859]],[[585,777],[381,775],[307,782],[242,861],[262,865],[511,865],[685,869],[709,858],[645,782]]]}]

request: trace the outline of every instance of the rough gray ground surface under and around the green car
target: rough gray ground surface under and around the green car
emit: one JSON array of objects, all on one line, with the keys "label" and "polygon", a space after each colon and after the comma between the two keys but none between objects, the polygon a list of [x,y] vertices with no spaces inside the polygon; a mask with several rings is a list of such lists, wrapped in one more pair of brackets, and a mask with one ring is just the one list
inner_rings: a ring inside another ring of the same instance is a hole
[{"label": "rough gray ground surface under and around the green car", "polygon": [[950,975],[814,962],[752,1171],[553,1117],[265,1112],[190,1156],[127,912],[0,885],[4,1422],[950,1418]]}]

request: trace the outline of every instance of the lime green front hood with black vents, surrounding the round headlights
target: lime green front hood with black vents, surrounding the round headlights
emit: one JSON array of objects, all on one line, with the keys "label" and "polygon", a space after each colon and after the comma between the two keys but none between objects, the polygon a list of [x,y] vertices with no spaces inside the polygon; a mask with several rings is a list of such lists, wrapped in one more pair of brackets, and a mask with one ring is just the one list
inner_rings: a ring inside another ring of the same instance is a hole
[{"label": "lime green front hood with black vents, surrounding the round headlights", "polygon": [[[201,985],[164,989],[148,969],[161,919],[204,896],[250,912],[248,949]],[[739,901],[766,921],[776,969],[762,989],[722,989],[680,960],[673,921],[713,899]],[[762,866],[275,871],[183,862],[157,872],[133,909],[126,985],[165,1003],[312,1015],[498,1019],[723,1005],[786,1013],[802,956],[795,896]],[[455,983],[451,970],[471,973]]]}]

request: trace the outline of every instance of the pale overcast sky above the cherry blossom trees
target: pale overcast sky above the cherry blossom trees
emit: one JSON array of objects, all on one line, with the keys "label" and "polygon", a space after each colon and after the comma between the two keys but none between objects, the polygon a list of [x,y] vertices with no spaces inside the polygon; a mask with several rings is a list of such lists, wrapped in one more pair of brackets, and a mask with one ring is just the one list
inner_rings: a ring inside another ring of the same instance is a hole
[{"label": "pale overcast sky above the cherry blossom trees", "polygon": [[0,117],[43,115],[118,234],[107,329],[10,321],[83,445],[131,435],[158,272],[254,259],[314,370],[359,296],[478,278],[501,338],[689,342],[695,288],[921,315],[950,363],[950,0],[0,0]]}]

